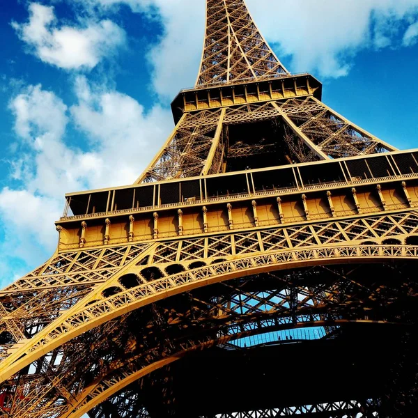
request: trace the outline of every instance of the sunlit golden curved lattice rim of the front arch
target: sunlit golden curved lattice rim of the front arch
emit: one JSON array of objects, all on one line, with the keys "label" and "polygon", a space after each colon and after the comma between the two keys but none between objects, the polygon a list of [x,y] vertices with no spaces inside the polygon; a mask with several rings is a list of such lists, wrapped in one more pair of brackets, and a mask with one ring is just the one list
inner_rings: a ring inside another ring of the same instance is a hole
[{"label": "sunlit golden curved lattice rim of the front arch", "polygon": [[[417,258],[418,246],[346,245],[275,251],[264,255],[252,255],[207,265],[203,268],[180,274],[173,274],[172,276],[141,284],[117,295],[99,300],[95,304],[84,305],[83,309],[76,313],[63,316],[60,318],[59,323],[53,323],[44,332],[41,332],[40,336],[33,337],[35,341],[29,341],[28,345],[25,346],[25,352],[21,352],[22,355],[15,362],[9,364],[1,371],[0,382],[10,378],[24,366],[31,364],[42,355],[46,355],[54,350],[54,348],[108,320],[118,318],[130,311],[172,295],[191,291],[194,288],[273,270],[338,264],[341,262],[346,263],[347,261],[348,263],[379,263],[388,260],[394,261],[395,259],[411,261]],[[130,272],[130,270],[126,270],[124,274],[126,272]],[[112,286],[112,284],[113,280],[110,280],[108,286]],[[101,288],[100,291],[102,290]]]}]

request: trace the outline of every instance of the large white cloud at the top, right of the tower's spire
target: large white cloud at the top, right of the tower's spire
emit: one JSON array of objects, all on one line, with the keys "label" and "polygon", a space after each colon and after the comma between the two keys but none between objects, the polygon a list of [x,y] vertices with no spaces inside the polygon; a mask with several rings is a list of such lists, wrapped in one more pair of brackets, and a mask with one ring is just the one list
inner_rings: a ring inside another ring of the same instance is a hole
[{"label": "large white cloud at the top, right of the tower's spire", "polygon": [[[248,0],[258,26],[295,72],[346,75],[362,49],[400,46],[403,21],[418,0]],[[286,63],[285,63],[286,64]]]}]

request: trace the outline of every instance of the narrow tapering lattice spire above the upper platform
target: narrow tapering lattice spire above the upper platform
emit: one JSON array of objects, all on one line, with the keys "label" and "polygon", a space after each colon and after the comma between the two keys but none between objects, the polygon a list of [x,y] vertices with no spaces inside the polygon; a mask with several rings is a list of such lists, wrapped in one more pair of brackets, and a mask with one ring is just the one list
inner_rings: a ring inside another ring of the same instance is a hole
[{"label": "narrow tapering lattice spire above the upper platform", "polygon": [[289,75],[244,0],[206,0],[206,36],[196,87]]}]

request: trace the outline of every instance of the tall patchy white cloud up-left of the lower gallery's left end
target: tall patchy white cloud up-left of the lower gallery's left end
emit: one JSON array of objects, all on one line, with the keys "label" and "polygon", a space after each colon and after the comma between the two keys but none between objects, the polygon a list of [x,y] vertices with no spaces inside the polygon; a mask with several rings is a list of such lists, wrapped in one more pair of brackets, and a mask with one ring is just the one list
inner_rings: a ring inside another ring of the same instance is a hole
[{"label": "tall patchy white cloud up-left of the lower gallery's left end", "polygon": [[[82,155],[63,143],[68,124],[67,106],[41,86],[29,86],[10,102],[15,132],[22,140],[14,161],[15,178],[33,194],[58,197],[61,187],[82,187]],[[68,171],[68,167],[72,170]]]}]

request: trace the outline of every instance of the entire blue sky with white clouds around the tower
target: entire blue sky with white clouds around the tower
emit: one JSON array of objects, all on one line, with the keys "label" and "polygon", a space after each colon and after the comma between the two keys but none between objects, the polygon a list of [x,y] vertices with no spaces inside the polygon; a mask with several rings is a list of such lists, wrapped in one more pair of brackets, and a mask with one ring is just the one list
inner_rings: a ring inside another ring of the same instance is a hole
[{"label": "entire blue sky with white clouds around the tower", "polygon": [[[418,0],[247,0],[292,72],[398,148],[418,148]],[[0,285],[45,261],[65,192],[130,184],[199,68],[204,0],[0,5]]]}]

